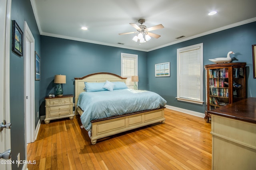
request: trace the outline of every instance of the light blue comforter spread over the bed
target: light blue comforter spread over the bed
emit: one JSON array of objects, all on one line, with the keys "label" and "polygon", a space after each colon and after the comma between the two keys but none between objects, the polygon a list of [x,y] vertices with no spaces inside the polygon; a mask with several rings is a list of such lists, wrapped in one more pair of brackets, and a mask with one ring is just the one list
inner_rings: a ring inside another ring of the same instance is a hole
[{"label": "light blue comforter spread over the bed", "polygon": [[166,100],[154,92],[132,89],[82,92],[77,102],[77,106],[84,111],[80,119],[87,131],[92,127],[91,120],[156,109],[165,105]]}]

